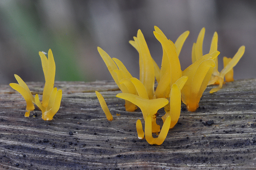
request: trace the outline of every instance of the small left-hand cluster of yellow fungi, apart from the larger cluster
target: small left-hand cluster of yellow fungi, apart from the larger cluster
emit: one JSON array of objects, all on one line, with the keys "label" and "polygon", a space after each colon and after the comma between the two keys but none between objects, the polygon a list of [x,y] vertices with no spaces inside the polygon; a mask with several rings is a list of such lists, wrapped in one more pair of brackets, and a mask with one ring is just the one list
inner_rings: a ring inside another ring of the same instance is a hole
[{"label": "small left-hand cluster of yellow fungi, apart from the larger cluster", "polygon": [[26,100],[26,113],[25,117],[28,117],[30,111],[35,109],[34,104],[36,104],[42,111],[43,120],[52,120],[53,116],[57,113],[60,107],[60,101],[62,97],[62,91],[54,88],[55,79],[55,62],[53,58],[52,50],[49,49],[48,59],[43,52],[39,52],[43,73],[45,78],[45,85],[43,88],[42,102],[39,100],[38,94],[33,97],[28,86],[25,82],[18,76],[14,75],[19,84],[11,83],[10,86],[17,90]]}]

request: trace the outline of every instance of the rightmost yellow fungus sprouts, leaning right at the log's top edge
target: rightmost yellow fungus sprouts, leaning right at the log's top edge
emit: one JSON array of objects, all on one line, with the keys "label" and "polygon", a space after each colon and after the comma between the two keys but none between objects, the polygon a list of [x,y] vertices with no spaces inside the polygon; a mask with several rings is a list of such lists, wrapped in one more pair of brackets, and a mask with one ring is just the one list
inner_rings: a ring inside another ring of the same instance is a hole
[{"label": "rightmost yellow fungus sprouts, leaning right at the log's top edge", "polygon": [[222,85],[224,83],[224,76],[226,78],[226,82],[231,82],[234,80],[233,67],[238,63],[244,52],[245,46],[241,46],[232,59],[229,59],[227,57],[223,58],[224,69],[222,69],[220,72],[218,72],[218,70],[213,72],[211,80],[208,83],[208,85],[218,84],[219,86],[211,89],[210,93],[216,92],[222,88]]}]

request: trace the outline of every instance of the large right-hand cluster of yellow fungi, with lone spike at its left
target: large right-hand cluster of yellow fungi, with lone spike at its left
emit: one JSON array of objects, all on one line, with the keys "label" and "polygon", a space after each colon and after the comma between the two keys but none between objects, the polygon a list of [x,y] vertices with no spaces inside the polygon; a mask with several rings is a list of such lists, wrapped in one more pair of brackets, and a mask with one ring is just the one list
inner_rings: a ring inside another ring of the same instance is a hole
[{"label": "large right-hand cluster of yellow fungi, with lone spike at its left", "polygon": [[[233,81],[233,67],[244,54],[245,47],[241,46],[232,59],[224,57],[224,69],[218,72],[217,56],[220,54],[217,51],[218,35],[216,32],[214,33],[210,51],[203,55],[202,44],[205,28],[202,28],[192,47],[192,64],[182,71],[179,54],[189,31],[185,31],[173,43],[157,26],[154,28],[154,36],[161,43],[163,49],[161,69],[151,57],[141,30],[138,30],[134,40],[129,41],[139,53],[139,80],[129,73],[120,60],[111,58],[100,47],[98,47],[98,52],[122,91],[116,97],[125,100],[126,111],[133,112],[137,107],[141,109],[145,121],[145,133],[141,120],[137,120],[138,138],[143,139],[145,135],[149,144],[161,145],[169,129],[178,122],[181,100],[186,104],[188,111],[194,112],[199,107],[200,98],[207,85],[219,84],[218,87],[210,91],[213,93],[221,89],[224,76],[226,82]],[[155,80],[157,81],[156,90],[154,90]],[[107,119],[112,120],[113,117],[110,116],[104,98],[97,91],[96,94]],[[162,116],[164,124],[160,130],[160,126],[156,123],[156,115],[162,107],[166,113]],[[159,136],[153,138],[152,133],[158,134],[158,132],[160,132]]]}]

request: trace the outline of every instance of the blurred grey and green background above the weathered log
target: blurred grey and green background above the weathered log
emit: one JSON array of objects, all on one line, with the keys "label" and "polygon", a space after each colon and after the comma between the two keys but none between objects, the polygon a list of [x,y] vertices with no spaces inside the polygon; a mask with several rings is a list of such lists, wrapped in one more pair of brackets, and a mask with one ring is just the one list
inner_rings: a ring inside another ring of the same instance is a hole
[{"label": "blurred grey and green background above the weathered log", "polygon": [[51,48],[56,81],[112,80],[97,51],[101,47],[139,77],[138,53],[129,44],[141,29],[152,58],[161,66],[162,47],[153,35],[158,26],[173,42],[190,35],[180,54],[181,68],[191,62],[193,42],[206,28],[203,53],[218,33],[219,71],[223,56],[245,45],[234,79],[256,78],[256,1],[245,0],[1,0],[0,84],[44,82],[39,51]]}]

